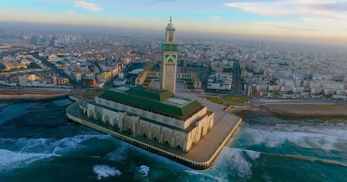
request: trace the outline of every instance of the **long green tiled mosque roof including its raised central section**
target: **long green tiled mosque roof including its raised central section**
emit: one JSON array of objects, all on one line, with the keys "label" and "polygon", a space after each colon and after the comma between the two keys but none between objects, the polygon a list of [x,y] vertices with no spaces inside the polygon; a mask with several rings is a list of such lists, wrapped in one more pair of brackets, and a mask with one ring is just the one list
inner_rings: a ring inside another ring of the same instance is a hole
[{"label": "long green tiled mosque roof including its raised central section", "polygon": [[[182,107],[160,102],[162,101],[162,98],[168,98],[173,96],[173,94],[167,90],[156,89],[146,86],[137,86],[134,87],[134,89],[130,89],[128,89],[125,93],[106,90],[104,93],[101,94],[101,97],[126,103],[136,107],[141,107],[144,110],[152,110],[154,112],[171,115],[176,118],[184,118],[184,116],[195,111],[198,107],[201,106],[201,103],[196,100],[192,100],[191,102],[185,104]],[[136,97],[129,94],[138,95],[140,97]]]}]

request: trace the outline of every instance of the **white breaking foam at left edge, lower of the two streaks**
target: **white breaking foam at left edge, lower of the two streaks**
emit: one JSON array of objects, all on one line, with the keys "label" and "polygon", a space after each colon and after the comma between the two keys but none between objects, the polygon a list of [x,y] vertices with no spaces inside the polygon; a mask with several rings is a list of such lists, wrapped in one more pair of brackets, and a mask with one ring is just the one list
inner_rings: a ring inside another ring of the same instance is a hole
[{"label": "white breaking foam at left edge, lower of the two streaks", "polygon": [[10,150],[0,149],[0,168],[24,167],[35,161],[60,156],[56,154],[33,154],[33,153],[16,153]]}]

